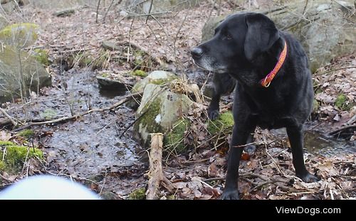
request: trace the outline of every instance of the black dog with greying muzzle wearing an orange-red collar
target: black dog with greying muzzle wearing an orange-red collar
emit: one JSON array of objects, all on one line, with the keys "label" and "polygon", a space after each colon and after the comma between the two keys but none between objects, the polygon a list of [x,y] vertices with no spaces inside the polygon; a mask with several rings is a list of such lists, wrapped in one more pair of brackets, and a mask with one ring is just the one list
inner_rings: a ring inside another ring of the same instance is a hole
[{"label": "black dog with greying muzzle wearing an orange-red collar", "polygon": [[292,36],[278,31],[263,14],[239,13],[227,17],[215,35],[191,51],[194,63],[237,80],[234,131],[223,199],[238,199],[237,179],[242,148],[256,126],[286,127],[296,176],[318,180],[303,160],[303,123],[313,107],[308,58]]}]

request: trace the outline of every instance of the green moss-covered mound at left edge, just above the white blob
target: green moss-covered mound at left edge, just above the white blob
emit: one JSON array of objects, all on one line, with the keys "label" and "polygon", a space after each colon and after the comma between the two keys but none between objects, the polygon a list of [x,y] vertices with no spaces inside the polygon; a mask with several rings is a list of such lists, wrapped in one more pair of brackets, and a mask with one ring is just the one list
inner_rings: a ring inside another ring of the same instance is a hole
[{"label": "green moss-covered mound at left edge, just above the white blob", "polygon": [[29,146],[17,146],[11,141],[0,141],[0,156],[4,156],[4,160],[1,158],[0,167],[9,173],[18,172],[26,159],[43,159],[43,153],[40,149]]}]

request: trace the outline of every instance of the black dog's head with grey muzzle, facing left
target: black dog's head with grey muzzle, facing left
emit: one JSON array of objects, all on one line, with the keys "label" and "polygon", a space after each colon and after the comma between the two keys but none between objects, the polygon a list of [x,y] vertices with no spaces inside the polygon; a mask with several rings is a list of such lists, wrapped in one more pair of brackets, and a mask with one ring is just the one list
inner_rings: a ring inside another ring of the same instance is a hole
[{"label": "black dog's head with grey muzzle, facing left", "polygon": [[212,72],[226,73],[246,67],[268,51],[279,38],[273,21],[257,13],[228,16],[210,41],[191,50],[194,63]]}]

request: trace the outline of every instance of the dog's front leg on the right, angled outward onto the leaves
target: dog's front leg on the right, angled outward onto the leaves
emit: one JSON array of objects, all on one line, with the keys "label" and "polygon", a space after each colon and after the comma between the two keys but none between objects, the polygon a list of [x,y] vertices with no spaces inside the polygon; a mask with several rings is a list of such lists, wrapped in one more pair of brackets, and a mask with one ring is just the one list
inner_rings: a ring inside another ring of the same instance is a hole
[{"label": "dog's front leg on the right, angled outward onto the leaves", "polygon": [[302,126],[287,127],[288,139],[293,154],[293,166],[295,168],[295,175],[301,178],[306,183],[312,183],[319,180],[316,176],[309,173],[305,168],[303,157],[303,130]]}]

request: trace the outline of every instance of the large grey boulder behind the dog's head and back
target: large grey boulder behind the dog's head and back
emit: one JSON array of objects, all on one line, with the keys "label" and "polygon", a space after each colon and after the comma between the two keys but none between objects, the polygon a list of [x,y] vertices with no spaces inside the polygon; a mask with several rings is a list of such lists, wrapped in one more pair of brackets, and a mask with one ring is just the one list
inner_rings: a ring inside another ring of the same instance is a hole
[{"label": "large grey boulder behind the dog's head and back", "polygon": [[[354,1],[315,0],[288,1],[288,5],[271,10],[260,10],[278,28],[289,31],[302,43],[310,59],[310,70],[315,72],[333,58],[355,52],[356,15]],[[303,16],[304,15],[304,16]],[[225,16],[211,18],[202,30],[202,41],[214,35],[214,28]]]}]

